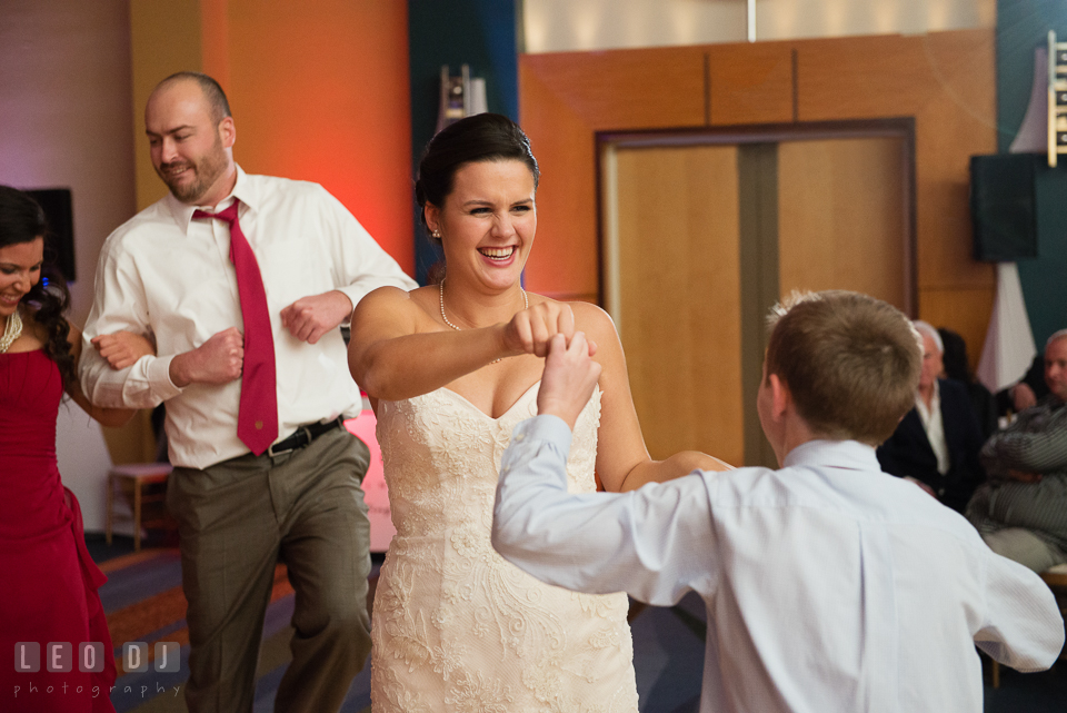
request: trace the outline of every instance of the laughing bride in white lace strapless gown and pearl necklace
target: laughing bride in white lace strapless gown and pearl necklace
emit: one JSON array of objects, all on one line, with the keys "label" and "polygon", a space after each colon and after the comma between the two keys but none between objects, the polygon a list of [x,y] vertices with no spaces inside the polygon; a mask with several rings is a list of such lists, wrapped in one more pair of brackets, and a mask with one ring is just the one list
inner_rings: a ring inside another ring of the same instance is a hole
[{"label": "laughing bride in white lace strapless gown and pearl necklace", "polygon": [[416,190],[447,277],[376,290],[352,318],[349,364],[378,415],[397,527],[371,627],[376,713],[637,711],[626,595],[541,584],[489,542],[500,457],[536,414],[555,334],[585,331],[602,367],[575,427],[572,492],[595,491],[595,472],[625,491],[725,467],[696,452],[651,461],[607,314],[521,288],[537,180],[510,119],[478,115],[442,130]]}]

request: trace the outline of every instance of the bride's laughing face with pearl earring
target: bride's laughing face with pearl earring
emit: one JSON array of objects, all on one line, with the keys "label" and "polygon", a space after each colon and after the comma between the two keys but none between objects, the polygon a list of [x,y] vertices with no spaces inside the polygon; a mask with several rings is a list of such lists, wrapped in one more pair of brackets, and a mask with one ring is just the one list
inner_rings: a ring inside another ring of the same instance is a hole
[{"label": "bride's laughing face with pearl earring", "polygon": [[490,290],[518,283],[537,230],[534,175],[519,160],[477,161],[456,171],[445,206],[427,206],[439,230],[449,281]]}]

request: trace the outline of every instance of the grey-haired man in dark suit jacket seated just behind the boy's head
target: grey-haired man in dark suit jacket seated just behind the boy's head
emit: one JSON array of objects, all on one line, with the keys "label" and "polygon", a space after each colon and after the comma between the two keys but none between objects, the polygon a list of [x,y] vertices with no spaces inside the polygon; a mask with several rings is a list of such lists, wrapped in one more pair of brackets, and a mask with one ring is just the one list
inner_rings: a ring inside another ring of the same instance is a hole
[{"label": "grey-haired man in dark suit jacket seated just behind the boy's head", "polygon": [[923,372],[915,407],[878,448],[881,469],[914,481],[944,505],[963,513],[985,479],[978,463],[983,437],[967,387],[938,378],[944,344],[937,329],[915,321],[923,337]]}]

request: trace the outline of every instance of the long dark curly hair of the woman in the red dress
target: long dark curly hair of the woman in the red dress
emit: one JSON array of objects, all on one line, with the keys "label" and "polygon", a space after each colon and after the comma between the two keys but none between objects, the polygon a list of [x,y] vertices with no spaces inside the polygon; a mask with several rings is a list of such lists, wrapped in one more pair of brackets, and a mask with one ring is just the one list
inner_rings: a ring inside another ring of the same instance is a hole
[{"label": "long dark curly hair of the woman in the red dress", "polygon": [[36,200],[9,186],[0,186],[0,247],[31,242],[44,238],[44,266],[41,280],[22,298],[29,307],[33,321],[44,328],[48,337],[44,354],[48,355],[63,377],[63,385],[74,382],[74,356],[70,351],[70,324],[63,317],[70,307],[67,281],[59,276],[51,263],[54,251],[48,234],[44,211]]}]

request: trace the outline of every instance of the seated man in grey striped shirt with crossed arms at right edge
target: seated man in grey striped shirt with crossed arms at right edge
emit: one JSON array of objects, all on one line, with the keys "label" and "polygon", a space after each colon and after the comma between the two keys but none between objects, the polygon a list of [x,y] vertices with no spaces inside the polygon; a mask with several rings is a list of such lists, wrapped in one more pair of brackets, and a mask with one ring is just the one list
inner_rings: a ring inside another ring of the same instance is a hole
[{"label": "seated man in grey striped shirt with crossed arms at right edge", "polygon": [[1045,345],[1049,394],[981,449],[989,482],[967,518],[994,552],[1035,572],[1067,562],[1067,329]]}]

